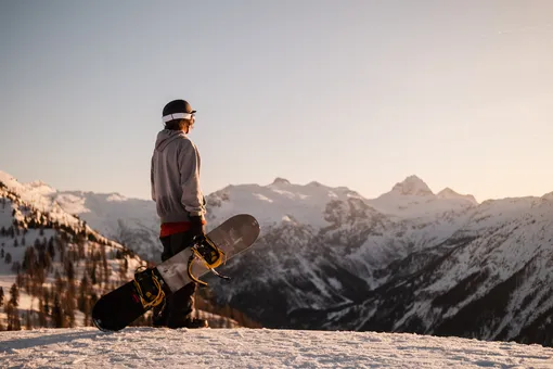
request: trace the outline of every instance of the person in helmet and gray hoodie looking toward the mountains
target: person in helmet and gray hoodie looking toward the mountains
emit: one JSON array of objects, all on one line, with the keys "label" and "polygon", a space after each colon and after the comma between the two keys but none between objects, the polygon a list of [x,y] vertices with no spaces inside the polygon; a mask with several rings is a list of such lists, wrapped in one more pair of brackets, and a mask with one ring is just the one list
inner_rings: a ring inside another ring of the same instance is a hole
[{"label": "person in helmet and gray hoodie looking toward the mountains", "polygon": [[[196,111],[185,100],[173,100],[163,109],[165,127],[157,133],[152,155],[152,200],[160,218],[159,240],[165,262],[187,246],[192,239],[205,236],[205,198],[200,186],[201,158],[196,145],[188,137],[195,123]],[[191,282],[154,307],[153,325],[169,328],[207,327],[194,319],[194,294]]]}]

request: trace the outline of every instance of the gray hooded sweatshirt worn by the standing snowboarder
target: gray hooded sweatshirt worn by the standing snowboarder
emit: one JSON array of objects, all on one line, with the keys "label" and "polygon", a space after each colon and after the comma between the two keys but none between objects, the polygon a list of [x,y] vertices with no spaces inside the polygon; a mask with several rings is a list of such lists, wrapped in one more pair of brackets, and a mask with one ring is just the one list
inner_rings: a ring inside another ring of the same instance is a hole
[{"label": "gray hooded sweatshirt worn by the standing snowboarder", "polygon": [[162,222],[188,221],[205,215],[205,199],[200,188],[200,154],[181,130],[157,133],[152,156],[152,200]]}]

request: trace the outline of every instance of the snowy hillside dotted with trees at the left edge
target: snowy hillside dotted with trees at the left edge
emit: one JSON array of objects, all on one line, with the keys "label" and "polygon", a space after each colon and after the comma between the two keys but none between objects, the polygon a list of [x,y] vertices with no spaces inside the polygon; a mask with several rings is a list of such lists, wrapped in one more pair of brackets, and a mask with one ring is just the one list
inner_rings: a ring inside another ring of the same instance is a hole
[{"label": "snowy hillside dotted with trees at the left edge", "polygon": [[[95,268],[100,263],[101,267]],[[144,263],[138,256],[51,204],[42,194],[31,194],[13,179],[1,178],[2,329],[10,328],[7,311],[12,285],[18,287],[20,298],[15,307],[22,321],[28,318],[35,327],[40,323],[40,315],[46,309],[42,302],[48,295],[52,300],[56,296],[62,305],[65,304],[64,327],[79,327],[90,323],[86,311],[89,311],[88,307],[95,296],[120,284],[121,280],[132,278],[140,265]],[[68,275],[73,276],[70,280]],[[91,282],[85,287],[86,297],[80,300],[80,304],[72,304],[72,301],[79,301],[75,292],[83,279]],[[77,305],[80,307],[75,308]],[[44,319],[53,325],[51,317]]]}]

